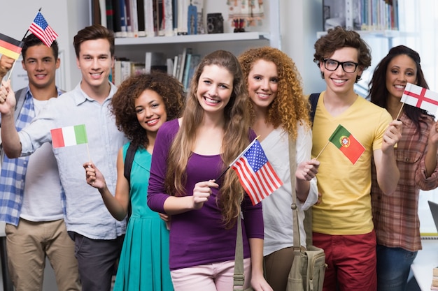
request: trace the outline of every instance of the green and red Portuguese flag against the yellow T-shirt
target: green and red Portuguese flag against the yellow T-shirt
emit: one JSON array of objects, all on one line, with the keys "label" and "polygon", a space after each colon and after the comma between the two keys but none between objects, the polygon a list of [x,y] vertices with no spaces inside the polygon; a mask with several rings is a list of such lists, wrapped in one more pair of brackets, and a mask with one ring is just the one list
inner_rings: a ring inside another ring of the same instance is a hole
[{"label": "green and red Portuguese flag against the yellow T-shirt", "polygon": [[342,153],[353,163],[358,161],[360,156],[365,151],[365,147],[353,137],[353,135],[344,128],[339,126],[334,130],[329,138],[330,142],[334,144]]}]

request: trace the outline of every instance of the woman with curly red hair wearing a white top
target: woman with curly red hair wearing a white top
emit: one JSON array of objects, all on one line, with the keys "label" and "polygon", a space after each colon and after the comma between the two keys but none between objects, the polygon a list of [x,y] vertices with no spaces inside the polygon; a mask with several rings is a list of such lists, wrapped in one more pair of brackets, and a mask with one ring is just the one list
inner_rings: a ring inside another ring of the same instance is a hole
[{"label": "woman with curly red hair wearing a white top", "polygon": [[[295,63],[273,47],[247,50],[239,62],[248,86],[248,107],[253,130],[283,181],[283,186],[262,201],[264,221],[264,262],[269,285],[274,291],[286,289],[292,266],[292,191],[299,208],[301,246],[306,247],[304,210],[318,200],[316,173],[319,162],[311,160],[312,135],[309,108],[303,96],[301,77]],[[296,141],[296,187],[290,184],[289,137]]]}]

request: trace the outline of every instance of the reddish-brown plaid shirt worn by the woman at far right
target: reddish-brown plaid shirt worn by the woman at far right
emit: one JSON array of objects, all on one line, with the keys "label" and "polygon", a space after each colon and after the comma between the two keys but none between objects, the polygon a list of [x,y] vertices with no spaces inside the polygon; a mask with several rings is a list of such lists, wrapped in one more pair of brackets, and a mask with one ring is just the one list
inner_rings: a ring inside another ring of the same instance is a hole
[{"label": "reddish-brown plaid shirt worn by the woman at far right", "polygon": [[[395,193],[382,193],[376,180],[376,169],[372,167],[372,212],[377,244],[407,251],[421,250],[420,220],[418,218],[418,195],[421,190],[438,186],[438,165],[432,175],[425,177],[425,156],[428,149],[430,127],[435,124],[432,117],[421,117],[421,135],[414,123],[405,114],[402,138],[395,148],[400,180]],[[427,126],[426,126],[426,124]]]}]

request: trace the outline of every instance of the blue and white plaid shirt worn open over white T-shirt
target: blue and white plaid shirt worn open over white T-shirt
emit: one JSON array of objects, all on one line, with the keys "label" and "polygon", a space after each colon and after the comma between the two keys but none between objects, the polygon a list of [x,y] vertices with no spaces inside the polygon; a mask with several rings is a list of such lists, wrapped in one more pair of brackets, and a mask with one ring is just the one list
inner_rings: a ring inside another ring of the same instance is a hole
[{"label": "blue and white plaid shirt worn open over white T-shirt", "polygon": [[[21,91],[21,90],[20,90]],[[57,89],[58,96],[63,91]],[[18,93],[18,91],[17,91]],[[35,117],[34,98],[29,87],[25,89],[24,99],[17,94],[17,108],[15,108],[15,127],[17,131],[26,127]],[[21,107],[22,105],[22,107]],[[18,225],[24,196],[24,181],[26,181],[29,156],[8,158],[3,156],[0,174],[0,221]],[[61,193],[62,208],[65,215],[65,194]]]}]

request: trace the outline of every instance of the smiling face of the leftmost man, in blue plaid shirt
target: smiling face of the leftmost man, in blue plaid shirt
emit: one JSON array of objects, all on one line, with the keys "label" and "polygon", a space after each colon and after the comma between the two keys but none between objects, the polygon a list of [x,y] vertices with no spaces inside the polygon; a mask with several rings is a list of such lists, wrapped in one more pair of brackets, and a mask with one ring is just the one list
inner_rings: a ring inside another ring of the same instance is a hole
[{"label": "smiling face of the leftmost man, in blue plaid shirt", "polygon": [[59,63],[59,59],[55,59],[53,55],[52,48],[47,45],[28,47],[22,67],[27,71],[29,86],[43,89],[55,84],[55,73]]}]

